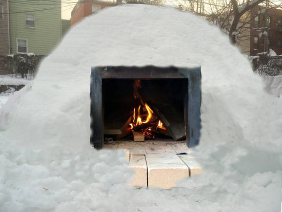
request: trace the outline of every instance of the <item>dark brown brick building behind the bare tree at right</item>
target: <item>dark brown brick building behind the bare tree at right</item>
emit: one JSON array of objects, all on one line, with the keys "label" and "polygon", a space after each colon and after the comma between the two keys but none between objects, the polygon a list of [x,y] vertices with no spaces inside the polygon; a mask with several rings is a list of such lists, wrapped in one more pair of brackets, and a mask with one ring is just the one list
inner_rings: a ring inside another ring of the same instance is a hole
[{"label": "dark brown brick building behind the bare tree at right", "polygon": [[282,10],[255,7],[251,10],[250,55],[274,50],[282,54]]}]

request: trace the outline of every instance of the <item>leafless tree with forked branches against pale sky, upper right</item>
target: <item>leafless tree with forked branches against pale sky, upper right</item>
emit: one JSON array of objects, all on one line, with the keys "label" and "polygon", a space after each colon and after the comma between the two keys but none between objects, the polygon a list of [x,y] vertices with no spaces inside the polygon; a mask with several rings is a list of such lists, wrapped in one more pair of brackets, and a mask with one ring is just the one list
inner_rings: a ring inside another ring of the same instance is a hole
[{"label": "leafless tree with forked branches against pale sky, upper right", "polygon": [[225,32],[231,43],[250,39],[250,11],[252,8],[264,8],[265,14],[273,8],[281,8],[282,2],[276,0],[178,0],[177,7],[202,16]]}]

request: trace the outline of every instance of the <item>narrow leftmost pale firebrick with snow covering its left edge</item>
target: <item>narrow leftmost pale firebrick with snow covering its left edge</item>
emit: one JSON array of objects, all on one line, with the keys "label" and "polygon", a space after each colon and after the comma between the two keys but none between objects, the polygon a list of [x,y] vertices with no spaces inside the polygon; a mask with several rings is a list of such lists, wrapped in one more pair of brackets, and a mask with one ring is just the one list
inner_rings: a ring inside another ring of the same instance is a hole
[{"label": "narrow leftmost pale firebrick with snow covering its left edge", "polygon": [[134,187],[147,187],[147,165],[145,156],[131,156],[129,168],[135,170],[134,178],[129,184]]}]

